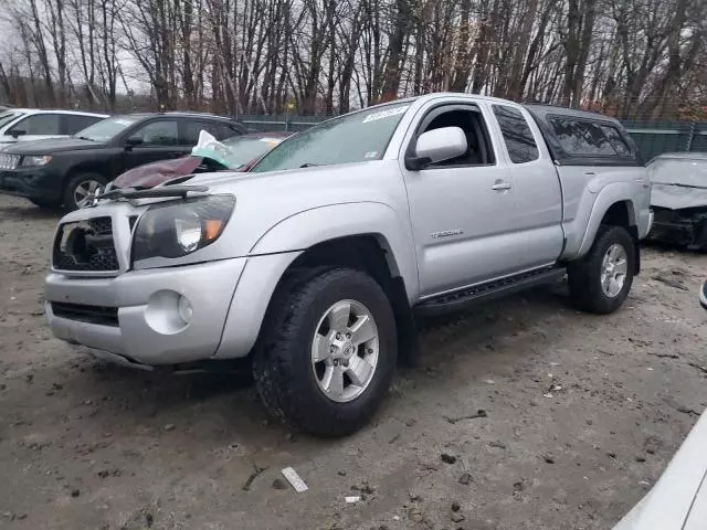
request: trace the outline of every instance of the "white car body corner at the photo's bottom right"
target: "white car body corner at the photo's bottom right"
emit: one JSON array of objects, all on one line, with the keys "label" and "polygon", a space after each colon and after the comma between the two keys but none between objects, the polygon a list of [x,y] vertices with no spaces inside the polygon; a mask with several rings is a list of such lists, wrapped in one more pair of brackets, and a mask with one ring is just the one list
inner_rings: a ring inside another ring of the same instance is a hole
[{"label": "white car body corner at the photo's bottom right", "polygon": [[613,530],[704,530],[707,527],[707,412],[653,489]]}]

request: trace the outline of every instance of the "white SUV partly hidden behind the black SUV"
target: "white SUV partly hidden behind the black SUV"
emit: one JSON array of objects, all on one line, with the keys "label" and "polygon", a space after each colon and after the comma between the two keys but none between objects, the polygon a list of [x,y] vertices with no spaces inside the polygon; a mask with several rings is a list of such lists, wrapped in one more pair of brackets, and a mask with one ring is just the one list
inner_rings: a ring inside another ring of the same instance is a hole
[{"label": "white SUV partly hidden behind the black SUV", "polygon": [[0,150],[17,141],[71,136],[107,117],[77,110],[8,108],[0,112]]}]

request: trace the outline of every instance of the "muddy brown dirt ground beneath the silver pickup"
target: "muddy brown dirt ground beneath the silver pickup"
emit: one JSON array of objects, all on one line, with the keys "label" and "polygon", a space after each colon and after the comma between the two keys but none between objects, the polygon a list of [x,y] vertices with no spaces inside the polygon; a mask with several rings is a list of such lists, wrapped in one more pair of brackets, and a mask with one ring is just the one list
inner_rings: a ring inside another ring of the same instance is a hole
[{"label": "muddy brown dirt ground beneath the silver pickup", "polygon": [[57,219],[0,195],[0,528],[605,529],[707,405],[705,255],[645,250],[609,317],[558,287],[426,322],[372,424],[323,442],[272,422],[244,378],[106,367],[53,339]]}]

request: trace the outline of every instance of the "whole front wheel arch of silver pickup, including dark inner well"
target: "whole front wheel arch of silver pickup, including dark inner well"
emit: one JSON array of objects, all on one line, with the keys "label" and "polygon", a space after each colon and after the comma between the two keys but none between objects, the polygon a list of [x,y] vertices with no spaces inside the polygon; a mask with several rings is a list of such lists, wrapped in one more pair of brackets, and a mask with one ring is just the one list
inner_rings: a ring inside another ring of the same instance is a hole
[{"label": "whole front wheel arch of silver pickup, including dark inner well", "polygon": [[411,300],[418,293],[418,272],[407,237],[393,211],[378,203],[325,206],[282,221],[249,254],[215,357],[252,350],[274,295],[289,274],[348,267],[370,274],[387,293],[395,316],[399,357],[412,364],[418,335]]}]

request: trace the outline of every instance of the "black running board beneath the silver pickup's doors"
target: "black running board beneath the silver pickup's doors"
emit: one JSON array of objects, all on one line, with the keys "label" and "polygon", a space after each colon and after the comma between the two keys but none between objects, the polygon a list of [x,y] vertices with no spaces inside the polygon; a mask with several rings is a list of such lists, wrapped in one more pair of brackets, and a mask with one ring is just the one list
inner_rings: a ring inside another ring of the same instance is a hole
[{"label": "black running board beneath the silver pickup's doors", "polygon": [[566,274],[567,269],[564,267],[541,268],[523,273],[517,276],[510,276],[430,298],[419,306],[415,306],[414,310],[416,315],[425,317],[454,312],[538,285],[557,282]]}]

